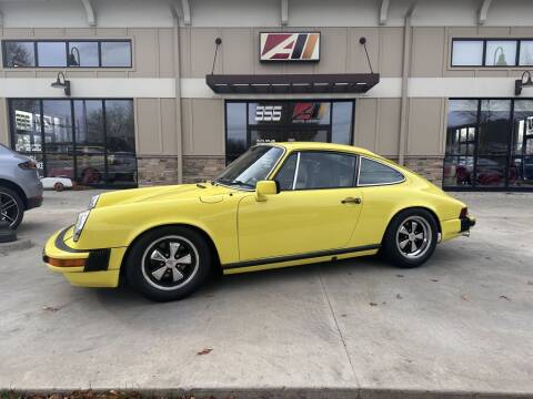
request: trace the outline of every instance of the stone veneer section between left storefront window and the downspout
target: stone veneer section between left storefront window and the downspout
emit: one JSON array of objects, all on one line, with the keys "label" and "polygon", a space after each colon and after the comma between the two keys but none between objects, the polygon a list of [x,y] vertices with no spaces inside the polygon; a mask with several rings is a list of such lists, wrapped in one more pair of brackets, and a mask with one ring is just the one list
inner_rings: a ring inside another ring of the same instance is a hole
[{"label": "stone veneer section between left storefront window and the downspout", "polygon": [[175,156],[139,155],[137,167],[140,187],[178,183],[178,158]]}]

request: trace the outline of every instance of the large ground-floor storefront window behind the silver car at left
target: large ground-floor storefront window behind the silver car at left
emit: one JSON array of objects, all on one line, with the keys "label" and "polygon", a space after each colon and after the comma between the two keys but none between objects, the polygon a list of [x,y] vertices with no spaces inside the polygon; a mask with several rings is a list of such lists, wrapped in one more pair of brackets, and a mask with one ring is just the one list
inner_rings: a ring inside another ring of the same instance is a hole
[{"label": "large ground-floor storefront window behind the silver car at left", "polygon": [[10,114],[13,149],[42,175],[137,186],[132,100],[11,100]]}]

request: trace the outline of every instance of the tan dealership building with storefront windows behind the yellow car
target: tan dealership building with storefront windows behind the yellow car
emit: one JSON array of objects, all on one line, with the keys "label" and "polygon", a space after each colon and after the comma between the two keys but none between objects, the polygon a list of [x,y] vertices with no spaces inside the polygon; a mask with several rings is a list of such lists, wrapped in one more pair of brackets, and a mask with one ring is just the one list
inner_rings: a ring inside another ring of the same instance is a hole
[{"label": "tan dealership building with storefront windows behind the yellow car", "polygon": [[446,190],[527,190],[532,16],[527,0],[4,0],[0,143],[93,186],[212,178],[257,143],[320,141]]}]

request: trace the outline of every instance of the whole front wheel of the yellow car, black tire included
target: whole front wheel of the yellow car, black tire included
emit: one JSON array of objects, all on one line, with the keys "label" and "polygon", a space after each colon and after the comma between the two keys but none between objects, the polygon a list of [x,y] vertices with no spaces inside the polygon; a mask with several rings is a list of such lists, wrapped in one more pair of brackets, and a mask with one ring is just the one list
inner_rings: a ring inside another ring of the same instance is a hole
[{"label": "whole front wheel of the yellow car, black tire included", "polygon": [[211,249],[201,234],[169,226],[150,231],[133,244],[125,275],[132,287],[148,299],[169,301],[195,291],[211,265]]}]

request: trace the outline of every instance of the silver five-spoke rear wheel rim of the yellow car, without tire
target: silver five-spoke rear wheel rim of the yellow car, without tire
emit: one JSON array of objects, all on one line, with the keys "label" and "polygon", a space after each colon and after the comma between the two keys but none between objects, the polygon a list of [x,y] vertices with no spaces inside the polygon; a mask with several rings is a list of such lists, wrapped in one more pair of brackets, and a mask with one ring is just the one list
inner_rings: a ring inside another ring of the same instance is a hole
[{"label": "silver five-spoke rear wheel rim of the yellow car, without tire", "polygon": [[396,232],[396,246],[406,258],[423,256],[431,246],[432,231],[422,216],[410,216],[402,222]]}]

